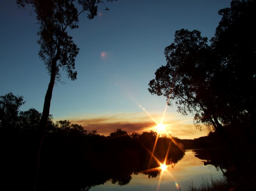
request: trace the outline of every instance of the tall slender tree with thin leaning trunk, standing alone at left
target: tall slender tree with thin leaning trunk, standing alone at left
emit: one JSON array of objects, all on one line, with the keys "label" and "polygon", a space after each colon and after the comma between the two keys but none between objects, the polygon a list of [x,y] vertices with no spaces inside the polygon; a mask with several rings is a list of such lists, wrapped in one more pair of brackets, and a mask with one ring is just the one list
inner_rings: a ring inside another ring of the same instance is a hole
[{"label": "tall slender tree with thin leaning trunk, standing alone at left", "polygon": [[[16,0],[16,3],[19,7],[24,8],[30,4],[34,8],[39,24],[39,31],[37,32],[39,35],[37,43],[40,45],[39,57],[45,63],[50,75],[39,124],[42,135],[41,145],[47,127],[52,90],[55,81],[60,80],[60,68],[66,70],[71,80],[76,79],[75,58],[79,48],[68,34],[67,29],[78,28],[81,13],[87,12],[87,18],[93,19],[97,15],[97,4],[103,3],[103,1],[77,0],[75,3],[75,0]],[[80,7],[79,11],[78,7]],[[106,10],[108,10],[107,7]]]}]

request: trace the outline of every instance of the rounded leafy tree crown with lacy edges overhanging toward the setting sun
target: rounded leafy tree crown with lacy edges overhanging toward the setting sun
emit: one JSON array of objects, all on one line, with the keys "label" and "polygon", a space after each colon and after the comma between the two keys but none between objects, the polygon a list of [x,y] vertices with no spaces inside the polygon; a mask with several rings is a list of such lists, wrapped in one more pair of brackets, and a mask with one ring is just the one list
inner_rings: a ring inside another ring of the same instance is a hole
[{"label": "rounded leafy tree crown with lacy edges overhanging toward the setting sun", "polygon": [[[150,81],[151,94],[164,95],[175,100],[178,112],[183,115],[195,112],[195,118],[217,129],[219,121],[214,111],[210,81],[213,71],[211,50],[207,38],[199,31],[181,29],[175,32],[174,43],[165,48],[167,64],[157,69],[156,78]],[[211,101],[211,103],[209,103]],[[213,106],[211,106],[213,107]],[[215,121],[214,121],[215,119]]]}]

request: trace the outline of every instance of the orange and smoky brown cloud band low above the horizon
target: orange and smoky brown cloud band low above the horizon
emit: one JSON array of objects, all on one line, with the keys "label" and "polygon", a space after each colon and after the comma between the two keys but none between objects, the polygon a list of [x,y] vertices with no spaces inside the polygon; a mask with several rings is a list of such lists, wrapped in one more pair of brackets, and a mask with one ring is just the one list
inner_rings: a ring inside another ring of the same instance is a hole
[{"label": "orange and smoky brown cloud band low above the horizon", "polygon": [[[160,123],[162,119],[160,115],[152,115],[157,122]],[[167,120],[168,119],[168,120]],[[171,120],[172,119],[172,120]],[[156,123],[145,115],[145,113],[122,113],[122,114],[108,114],[108,115],[85,115],[70,119],[72,123],[82,125],[87,132],[97,129],[99,134],[108,136],[115,129],[122,129],[128,133],[145,131],[157,131],[154,129]],[[166,131],[174,137],[181,139],[194,139],[207,135],[207,130],[203,128],[199,131],[193,125],[191,119],[179,120],[177,116],[167,115],[163,124],[166,126]]]}]

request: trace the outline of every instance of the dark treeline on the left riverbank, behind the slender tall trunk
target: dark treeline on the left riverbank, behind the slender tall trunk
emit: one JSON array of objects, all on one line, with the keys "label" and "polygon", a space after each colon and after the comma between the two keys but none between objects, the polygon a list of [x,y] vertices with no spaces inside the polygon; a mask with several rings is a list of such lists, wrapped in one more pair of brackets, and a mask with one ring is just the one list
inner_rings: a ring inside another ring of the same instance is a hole
[{"label": "dark treeline on the left riverbank, behind the slender tall trunk", "polygon": [[[12,93],[0,97],[1,190],[33,190],[41,113],[36,109],[19,111],[24,103],[22,96]],[[132,173],[138,172],[156,177],[160,171],[145,171],[160,165],[151,157],[156,138],[154,156],[160,163],[166,155],[166,164],[182,159],[184,151],[178,138],[121,129],[104,136],[97,130],[87,132],[69,120],[54,123],[50,116],[41,148],[37,190],[88,190],[108,180],[125,185]]]}]

